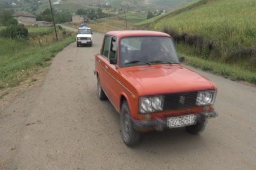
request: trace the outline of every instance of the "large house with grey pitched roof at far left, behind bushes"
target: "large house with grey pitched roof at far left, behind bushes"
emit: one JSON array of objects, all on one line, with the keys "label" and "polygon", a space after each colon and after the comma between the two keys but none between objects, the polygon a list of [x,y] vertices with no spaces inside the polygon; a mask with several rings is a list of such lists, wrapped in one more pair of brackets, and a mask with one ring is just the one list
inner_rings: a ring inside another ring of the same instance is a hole
[{"label": "large house with grey pitched roof at far left, behind bushes", "polygon": [[24,26],[34,26],[36,24],[36,16],[27,11],[17,11],[12,17]]}]

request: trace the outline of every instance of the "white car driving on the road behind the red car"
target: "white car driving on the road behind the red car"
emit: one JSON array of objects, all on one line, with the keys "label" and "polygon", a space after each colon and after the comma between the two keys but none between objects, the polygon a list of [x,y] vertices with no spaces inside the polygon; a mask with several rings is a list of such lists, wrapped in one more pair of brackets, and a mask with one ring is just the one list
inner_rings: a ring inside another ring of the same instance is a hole
[{"label": "white car driving on the road behind the red car", "polygon": [[91,28],[89,27],[81,27],[78,30],[77,36],[76,36],[76,46],[79,47],[80,45],[90,45],[90,47],[93,45],[93,32],[91,31]]}]

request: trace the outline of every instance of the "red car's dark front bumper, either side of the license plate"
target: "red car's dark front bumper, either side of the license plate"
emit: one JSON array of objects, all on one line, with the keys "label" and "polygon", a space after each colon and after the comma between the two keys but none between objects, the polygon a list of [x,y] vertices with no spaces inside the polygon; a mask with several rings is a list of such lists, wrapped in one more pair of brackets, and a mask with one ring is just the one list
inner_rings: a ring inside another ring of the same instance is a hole
[{"label": "red car's dark front bumper, either side of the license plate", "polygon": [[[218,116],[218,113],[213,111],[202,112],[196,114],[197,122],[207,121],[209,118],[215,118]],[[134,129],[136,130],[158,130],[161,131],[163,129],[169,128],[167,127],[167,118],[164,119],[154,119],[154,120],[145,120],[145,121],[138,121],[131,119]]]}]

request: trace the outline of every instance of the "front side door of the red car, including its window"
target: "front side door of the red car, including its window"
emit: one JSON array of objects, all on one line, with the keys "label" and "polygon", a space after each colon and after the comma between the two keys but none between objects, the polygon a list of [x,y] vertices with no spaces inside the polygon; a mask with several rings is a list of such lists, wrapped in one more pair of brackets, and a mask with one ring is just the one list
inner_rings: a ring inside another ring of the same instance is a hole
[{"label": "front side door of the red car, including its window", "polygon": [[108,51],[108,61],[105,62],[105,72],[106,72],[106,90],[105,93],[108,96],[108,99],[114,105],[115,108],[118,107],[119,103],[119,91],[121,86],[118,81],[118,70],[115,64],[110,64],[110,59],[117,61],[117,39],[116,37],[111,37],[110,39],[110,48]]}]

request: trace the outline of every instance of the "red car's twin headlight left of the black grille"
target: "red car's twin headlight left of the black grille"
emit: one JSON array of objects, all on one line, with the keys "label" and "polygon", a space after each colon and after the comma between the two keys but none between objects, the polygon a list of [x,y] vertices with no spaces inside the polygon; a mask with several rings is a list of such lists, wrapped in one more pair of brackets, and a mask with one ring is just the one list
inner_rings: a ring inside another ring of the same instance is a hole
[{"label": "red car's twin headlight left of the black grille", "polygon": [[163,96],[151,96],[140,98],[140,113],[162,111]]}]

